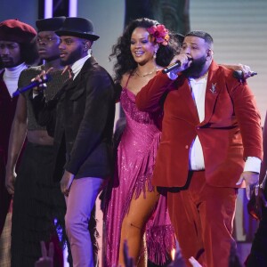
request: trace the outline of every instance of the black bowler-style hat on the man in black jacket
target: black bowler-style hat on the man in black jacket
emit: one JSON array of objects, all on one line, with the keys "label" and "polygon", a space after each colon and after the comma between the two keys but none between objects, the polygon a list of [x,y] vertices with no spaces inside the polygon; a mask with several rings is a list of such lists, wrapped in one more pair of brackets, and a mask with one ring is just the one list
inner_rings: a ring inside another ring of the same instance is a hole
[{"label": "black bowler-style hat on the man in black jacket", "polygon": [[76,36],[95,41],[99,36],[93,32],[93,22],[84,18],[66,18],[62,27],[55,31],[58,36]]}]

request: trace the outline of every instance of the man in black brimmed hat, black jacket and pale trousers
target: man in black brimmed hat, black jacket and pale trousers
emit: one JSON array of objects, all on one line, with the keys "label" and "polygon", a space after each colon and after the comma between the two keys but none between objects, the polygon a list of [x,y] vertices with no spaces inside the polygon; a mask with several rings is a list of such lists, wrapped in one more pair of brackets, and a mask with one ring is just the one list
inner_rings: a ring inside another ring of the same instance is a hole
[{"label": "man in black brimmed hat, black jacket and pale trousers", "polygon": [[114,85],[91,55],[93,41],[99,38],[91,20],[67,18],[56,34],[61,38],[61,64],[72,78],[54,99],[56,112],[48,101],[38,117],[46,125],[56,117],[54,144],[59,156],[62,148],[66,152],[61,191],[66,196],[65,223],[73,264],[91,267],[88,223],[97,195],[112,173]]}]

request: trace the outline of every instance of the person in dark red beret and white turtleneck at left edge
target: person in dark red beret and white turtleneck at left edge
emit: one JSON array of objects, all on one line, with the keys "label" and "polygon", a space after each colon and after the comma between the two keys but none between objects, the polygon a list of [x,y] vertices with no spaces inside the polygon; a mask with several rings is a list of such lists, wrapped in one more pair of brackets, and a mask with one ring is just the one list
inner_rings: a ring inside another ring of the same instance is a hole
[{"label": "person in dark red beret and white turtleneck at left edge", "polygon": [[[9,134],[18,97],[12,93],[18,88],[20,72],[36,63],[35,28],[20,20],[0,22],[0,265],[10,262],[10,229],[12,195],[4,185]],[[22,144],[21,144],[22,145]],[[8,214],[8,216],[7,216]],[[6,222],[6,223],[5,223]],[[4,224],[5,223],[5,224]],[[2,235],[3,233],[3,235]],[[6,234],[4,234],[6,233]],[[6,238],[5,238],[6,237]]]}]

